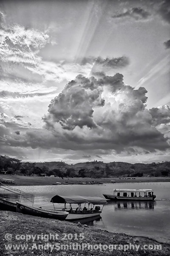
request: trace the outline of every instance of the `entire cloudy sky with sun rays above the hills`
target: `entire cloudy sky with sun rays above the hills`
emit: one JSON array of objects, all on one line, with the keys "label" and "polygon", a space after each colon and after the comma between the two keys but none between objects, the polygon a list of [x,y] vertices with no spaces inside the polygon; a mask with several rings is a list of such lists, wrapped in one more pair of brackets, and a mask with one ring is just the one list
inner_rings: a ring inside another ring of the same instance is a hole
[{"label": "entire cloudy sky with sun rays above the hills", "polygon": [[170,160],[167,0],[1,0],[0,155]]}]

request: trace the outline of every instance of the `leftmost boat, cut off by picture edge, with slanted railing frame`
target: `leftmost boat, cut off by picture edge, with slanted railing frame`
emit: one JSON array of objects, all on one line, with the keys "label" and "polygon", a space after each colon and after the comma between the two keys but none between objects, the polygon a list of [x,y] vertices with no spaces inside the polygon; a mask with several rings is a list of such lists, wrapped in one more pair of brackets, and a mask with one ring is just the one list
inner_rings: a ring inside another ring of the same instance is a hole
[{"label": "leftmost boat, cut off by picture edge, with slanted railing frame", "polygon": [[[9,195],[6,194],[6,192],[10,193],[11,195],[14,195],[15,198],[17,198],[18,201],[21,201],[24,199],[31,199],[34,201],[34,195],[31,195],[29,193],[23,192],[20,189],[15,189],[14,187],[7,186],[6,184],[0,183],[0,189],[2,192],[0,192],[0,210],[3,211],[11,211],[11,212],[17,212],[17,204],[14,201],[11,201]],[[9,198],[7,198],[7,196]]]}]

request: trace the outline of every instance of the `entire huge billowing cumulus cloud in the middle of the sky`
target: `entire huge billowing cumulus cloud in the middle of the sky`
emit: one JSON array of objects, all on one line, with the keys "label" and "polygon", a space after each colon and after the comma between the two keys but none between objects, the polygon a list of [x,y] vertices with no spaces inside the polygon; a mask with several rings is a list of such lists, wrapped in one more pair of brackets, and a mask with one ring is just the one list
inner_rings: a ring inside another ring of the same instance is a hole
[{"label": "entire huge billowing cumulus cloud in the middle of the sky", "polygon": [[125,85],[119,73],[99,79],[77,76],[51,101],[45,127],[62,148],[165,150],[169,144],[145,106],[146,93],[144,87]]}]

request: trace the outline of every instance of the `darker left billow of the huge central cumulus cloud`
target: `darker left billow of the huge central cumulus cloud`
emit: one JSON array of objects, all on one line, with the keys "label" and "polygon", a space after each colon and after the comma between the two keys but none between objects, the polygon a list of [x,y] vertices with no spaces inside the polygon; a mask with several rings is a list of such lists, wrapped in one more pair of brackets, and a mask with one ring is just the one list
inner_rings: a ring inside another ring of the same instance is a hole
[{"label": "darker left billow of the huge central cumulus cloud", "polygon": [[94,128],[96,124],[93,120],[93,108],[104,104],[105,100],[101,97],[96,79],[79,75],[51,101],[48,107],[49,114],[44,117],[44,121],[59,122],[62,128],[68,130],[73,130],[76,126],[82,128],[85,125]]}]

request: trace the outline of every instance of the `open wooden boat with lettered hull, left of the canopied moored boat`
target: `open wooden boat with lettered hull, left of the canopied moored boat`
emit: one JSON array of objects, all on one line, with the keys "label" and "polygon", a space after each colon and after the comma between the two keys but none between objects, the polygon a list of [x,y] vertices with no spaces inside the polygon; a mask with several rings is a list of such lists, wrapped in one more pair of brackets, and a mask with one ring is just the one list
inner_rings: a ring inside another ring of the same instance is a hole
[{"label": "open wooden boat with lettered hull, left of the canopied moored boat", "polygon": [[43,218],[55,218],[57,220],[65,220],[68,215],[68,212],[65,211],[56,211],[45,209],[41,207],[33,207],[28,204],[23,204],[17,201],[17,212],[21,212],[28,215],[39,216]]}]

